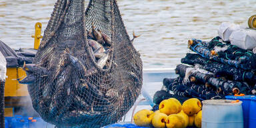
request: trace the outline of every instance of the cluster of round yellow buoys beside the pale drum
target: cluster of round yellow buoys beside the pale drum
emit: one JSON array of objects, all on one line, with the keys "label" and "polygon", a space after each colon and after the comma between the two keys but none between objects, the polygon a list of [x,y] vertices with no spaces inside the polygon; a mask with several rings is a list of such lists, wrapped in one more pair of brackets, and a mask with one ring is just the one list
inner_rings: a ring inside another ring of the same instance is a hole
[{"label": "cluster of round yellow buoys beside the pale drum", "polygon": [[181,105],[175,99],[165,99],[159,104],[159,110],[142,109],[133,119],[136,125],[155,128],[201,128],[202,104],[199,99],[188,99]]}]

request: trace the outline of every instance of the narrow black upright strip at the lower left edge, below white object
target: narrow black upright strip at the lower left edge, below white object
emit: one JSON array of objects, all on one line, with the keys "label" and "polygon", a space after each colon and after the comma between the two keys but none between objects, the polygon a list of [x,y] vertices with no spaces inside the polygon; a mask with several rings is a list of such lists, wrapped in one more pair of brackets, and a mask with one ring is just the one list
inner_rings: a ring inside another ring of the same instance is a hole
[{"label": "narrow black upright strip at the lower left edge, below white object", "polygon": [[5,81],[0,81],[0,127],[5,128]]}]

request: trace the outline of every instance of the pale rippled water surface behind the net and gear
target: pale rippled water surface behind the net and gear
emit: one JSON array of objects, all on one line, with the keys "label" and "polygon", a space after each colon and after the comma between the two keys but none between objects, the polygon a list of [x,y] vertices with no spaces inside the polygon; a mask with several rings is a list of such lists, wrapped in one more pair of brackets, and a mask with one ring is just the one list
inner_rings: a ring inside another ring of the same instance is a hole
[{"label": "pale rippled water surface behind the net and gear", "polygon": [[[255,0],[117,0],[130,36],[141,35],[134,45],[144,68],[175,67],[185,56],[187,40],[209,40],[221,22],[247,25],[256,13]],[[43,29],[54,0],[0,0],[0,40],[19,49],[33,47],[36,22]]]}]

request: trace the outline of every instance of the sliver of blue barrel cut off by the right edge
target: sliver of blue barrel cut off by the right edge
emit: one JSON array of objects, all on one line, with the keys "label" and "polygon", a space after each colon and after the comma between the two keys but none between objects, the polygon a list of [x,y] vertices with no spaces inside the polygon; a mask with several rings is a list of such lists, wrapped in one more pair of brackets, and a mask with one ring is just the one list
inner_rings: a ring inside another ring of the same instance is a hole
[{"label": "sliver of blue barrel cut off by the right edge", "polygon": [[249,128],[256,127],[256,97],[251,99],[250,105],[250,114],[249,114]]}]

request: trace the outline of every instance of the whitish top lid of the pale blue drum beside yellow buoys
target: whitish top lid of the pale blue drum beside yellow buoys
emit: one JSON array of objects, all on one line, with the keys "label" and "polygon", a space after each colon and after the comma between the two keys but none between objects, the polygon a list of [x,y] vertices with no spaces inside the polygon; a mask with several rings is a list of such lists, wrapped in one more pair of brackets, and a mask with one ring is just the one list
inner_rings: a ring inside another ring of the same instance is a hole
[{"label": "whitish top lid of the pale blue drum beside yellow buoys", "polygon": [[233,100],[227,99],[211,99],[202,101],[203,105],[222,105],[222,106],[231,106],[231,105],[241,105],[243,102],[239,101],[237,103],[231,103]]}]

